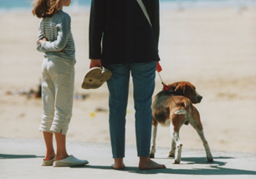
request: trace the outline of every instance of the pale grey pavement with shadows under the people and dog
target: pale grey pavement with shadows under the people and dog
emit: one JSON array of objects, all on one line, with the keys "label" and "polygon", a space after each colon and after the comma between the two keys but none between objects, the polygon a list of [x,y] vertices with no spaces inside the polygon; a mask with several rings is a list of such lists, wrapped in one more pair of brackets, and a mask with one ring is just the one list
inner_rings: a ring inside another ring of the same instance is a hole
[{"label": "pale grey pavement with shadows under the people and dog", "polygon": [[166,169],[139,170],[136,146],[125,147],[125,169],[113,170],[109,143],[67,142],[69,155],[90,162],[84,167],[42,167],[44,140],[0,137],[0,178],[256,178],[256,153],[212,151],[214,162],[206,162],[203,150],[182,149],[182,162],[172,164],[168,148],[156,147],[154,161]]}]

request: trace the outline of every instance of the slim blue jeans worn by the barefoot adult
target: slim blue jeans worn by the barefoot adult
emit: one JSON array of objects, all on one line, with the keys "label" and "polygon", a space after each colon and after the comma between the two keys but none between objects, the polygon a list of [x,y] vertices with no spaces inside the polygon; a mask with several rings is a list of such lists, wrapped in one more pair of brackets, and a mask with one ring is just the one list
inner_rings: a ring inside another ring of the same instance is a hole
[{"label": "slim blue jeans worn by the barefoot adult", "polygon": [[114,158],[125,157],[125,116],[130,72],[136,110],[136,145],[138,157],[149,157],[151,145],[151,101],[155,89],[156,62],[118,64],[107,67],[113,77],[110,91],[110,140]]}]

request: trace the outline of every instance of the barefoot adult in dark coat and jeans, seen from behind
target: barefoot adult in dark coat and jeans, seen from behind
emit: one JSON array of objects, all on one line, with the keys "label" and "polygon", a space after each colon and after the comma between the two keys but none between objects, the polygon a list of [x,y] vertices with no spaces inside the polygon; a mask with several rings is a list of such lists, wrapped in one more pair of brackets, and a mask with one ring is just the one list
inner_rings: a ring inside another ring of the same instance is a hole
[{"label": "barefoot adult in dark coat and jeans, seen from behind", "polygon": [[90,9],[90,68],[113,73],[107,82],[110,98],[110,141],[114,169],[125,164],[125,115],[130,73],[136,109],[136,146],[140,169],[165,168],[151,161],[151,97],[155,88],[159,39],[159,1],[143,1],[147,21],[136,0],[92,0]]}]

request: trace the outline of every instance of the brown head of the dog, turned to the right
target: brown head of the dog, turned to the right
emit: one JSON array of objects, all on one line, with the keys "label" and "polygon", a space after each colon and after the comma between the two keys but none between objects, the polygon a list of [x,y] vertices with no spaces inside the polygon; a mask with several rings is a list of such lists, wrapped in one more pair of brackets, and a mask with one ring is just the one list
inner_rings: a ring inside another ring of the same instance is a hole
[{"label": "brown head of the dog, turned to the right", "polygon": [[199,103],[202,100],[202,96],[197,93],[196,87],[190,82],[174,82],[168,86],[172,88],[174,95],[187,97],[194,104]]}]

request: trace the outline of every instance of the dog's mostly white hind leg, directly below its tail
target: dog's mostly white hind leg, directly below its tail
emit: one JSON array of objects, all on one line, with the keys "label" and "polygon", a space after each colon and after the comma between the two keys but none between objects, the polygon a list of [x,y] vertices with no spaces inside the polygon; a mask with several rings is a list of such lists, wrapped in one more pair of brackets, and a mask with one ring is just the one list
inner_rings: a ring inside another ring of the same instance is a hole
[{"label": "dog's mostly white hind leg, directly below its tail", "polygon": [[179,164],[182,158],[182,142],[179,137],[179,132],[174,130],[174,126],[171,123],[171,134],[172,134],[172,141],[176,143],[176,150],[175,150],[175,158],[173,160],[173,164]]}]

